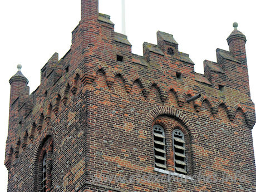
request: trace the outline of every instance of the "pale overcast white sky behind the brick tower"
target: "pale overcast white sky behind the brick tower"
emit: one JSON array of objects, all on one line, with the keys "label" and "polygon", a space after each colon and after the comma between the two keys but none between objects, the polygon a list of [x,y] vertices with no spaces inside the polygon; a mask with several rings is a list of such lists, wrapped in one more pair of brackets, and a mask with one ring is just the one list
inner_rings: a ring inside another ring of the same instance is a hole
[{"label": "pale overcast white sky behind the brick tower", "polygon": [[[4,166],[8,131],[9,78],[22,64],[30,92],[40,85],[40,70],[58,52],[60,58],[70,49],[71,32],[80,21],[80,0],[12,0],[0,2],[1,56],[1,191],[7,191]],[[121,0],[100,0],[101,13],[109,14],[115,31],[121,32]],[[132,52],[142,55],[142,43],[156,44],[156,32],[174,35],[179,51],[189,53],[195,71],[203,72],[203,61],[216,62],[216,48],[228,50],[226,41],[233,22],[247,37],[250,91],[256,101],[254,1],[171,1],[126,0],[126,35]],[[255,128],[253,129],[254,141]],[[254,149],[255,149],[254,143]],[[255,150],[254,150],[255,151]]]}]

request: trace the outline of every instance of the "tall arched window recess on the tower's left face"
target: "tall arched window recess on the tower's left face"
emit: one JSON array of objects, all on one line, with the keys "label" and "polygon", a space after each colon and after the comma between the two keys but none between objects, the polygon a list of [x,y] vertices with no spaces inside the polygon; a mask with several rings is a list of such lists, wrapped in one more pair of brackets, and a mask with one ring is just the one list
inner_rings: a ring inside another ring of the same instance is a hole
[{"label": "tall arched window recess on the tower's left face", "polygon": [[47,192],[52,186],[53,139],[47,136],[37,152],[35,165],[35,191]]}]

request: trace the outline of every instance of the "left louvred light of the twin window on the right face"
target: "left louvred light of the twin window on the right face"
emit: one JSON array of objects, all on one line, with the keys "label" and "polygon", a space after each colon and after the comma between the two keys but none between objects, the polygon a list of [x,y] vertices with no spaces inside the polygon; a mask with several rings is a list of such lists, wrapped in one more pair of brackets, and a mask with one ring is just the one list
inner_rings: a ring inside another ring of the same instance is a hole
[{"label": "left louvred light of the twin window on the right face", "polygon": [[165,131],[160,125],[154,125],[154,152],[155,167],[166,170],[166,147],[165,147]]}]

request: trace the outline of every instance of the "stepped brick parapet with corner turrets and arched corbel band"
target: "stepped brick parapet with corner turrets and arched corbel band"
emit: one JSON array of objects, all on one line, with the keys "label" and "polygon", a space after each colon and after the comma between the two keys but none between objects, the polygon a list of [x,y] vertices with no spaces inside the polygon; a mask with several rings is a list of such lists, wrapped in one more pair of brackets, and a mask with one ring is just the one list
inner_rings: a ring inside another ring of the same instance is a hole
[{"label": "stepped brick parapet with corner turrets and arched corbel band", "polygon": [[[91,0],[88,5],[97,3]],[[189,55],[179,51],[173,35],[158,31],[157,45],[144,42],[143,56],[135,55],[127,36],[114,32],[110,16],[90,7],[90,17],[85,17],[86,9],[82,8],[82,20],[73,31],[71,50],[61,60],[58,53],[53,54],[41,70],[41,85],[35,91],[29,95],[28,80],[20,72],[21,67],[10,80],[5,161],[8,169],[29,144],[38,143],[46,129],[76,107],[78,97],[84,99],[86,91],[93,94],[104,90],[111,96],[122,92],[125,98],[118,102],[139,100],[143,106],[170,106],[174,111],[190,111],[191,116],[201,115],[213,121],[219,121],[222,107],[230,125],[242,112],[246,126],[252,129],[256,119],[245,52],[234,52],[237,43],[245,43],[242,33],[232,33],[228,38],[230,51],[217,49],[217,62],[205,60],[205,73],[200,74],[194,71]],[[121,89],[117,87],[120,82]],[[136,98],[135,92],[139,92]],[[198,94],[200,99],[186,101]]]}]

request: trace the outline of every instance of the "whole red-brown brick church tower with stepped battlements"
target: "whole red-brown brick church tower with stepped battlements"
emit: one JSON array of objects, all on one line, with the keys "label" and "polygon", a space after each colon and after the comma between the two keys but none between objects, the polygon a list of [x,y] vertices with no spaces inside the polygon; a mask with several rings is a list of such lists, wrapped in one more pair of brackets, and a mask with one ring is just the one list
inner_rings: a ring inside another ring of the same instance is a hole
[{"label": "whole red-brown brick church tower with stepped battlements", "polygon": [[40,86],[29,95],[20,65],[9,80],[8,192],[256,191],[246,38],[233,26],[202,75],[165,32],[132,54],[82,0],[72,46]]}]

